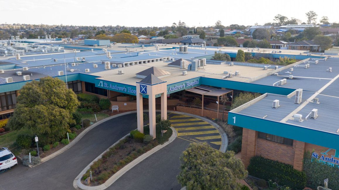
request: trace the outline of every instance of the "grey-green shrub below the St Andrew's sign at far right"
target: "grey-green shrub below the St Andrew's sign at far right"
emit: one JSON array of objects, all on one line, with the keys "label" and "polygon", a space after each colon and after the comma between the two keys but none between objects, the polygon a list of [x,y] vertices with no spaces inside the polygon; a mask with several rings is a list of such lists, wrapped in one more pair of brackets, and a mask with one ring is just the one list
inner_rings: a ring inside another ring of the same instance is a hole
[{"label": "grey-green shrub below the St Andrew's sign at far right", "polygon": [[307,186],[317,189],[317,186],[324,186],[324,179],[328,179],[328,188],[339,189],[339,169],[319,163],[313,158],[311,153],[304,154],[304,171],[307,176]]}]

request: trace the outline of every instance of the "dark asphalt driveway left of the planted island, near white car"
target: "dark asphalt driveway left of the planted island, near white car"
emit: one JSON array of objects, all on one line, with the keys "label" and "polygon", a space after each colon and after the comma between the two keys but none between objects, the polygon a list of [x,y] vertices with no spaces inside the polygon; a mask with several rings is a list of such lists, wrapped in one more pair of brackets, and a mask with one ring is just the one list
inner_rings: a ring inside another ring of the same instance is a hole
[{"label": "dark asphalt driveway left of the planted island, near white car", "polygon": [[127,114],[103,122],[74,146],[34,168],[20,163],[1,173],[0,189],[74,190],[75,177],[104,150],[136,128],[135,116]]}]

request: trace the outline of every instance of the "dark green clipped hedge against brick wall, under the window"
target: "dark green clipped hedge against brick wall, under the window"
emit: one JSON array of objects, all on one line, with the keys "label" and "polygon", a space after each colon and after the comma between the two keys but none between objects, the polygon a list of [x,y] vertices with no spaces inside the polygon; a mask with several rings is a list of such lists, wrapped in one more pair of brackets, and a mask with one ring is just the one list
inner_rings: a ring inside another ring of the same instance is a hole
[{"label": "dark green clipped hedge against brick wall, under the window", "polygon": [[292,165],[265,159],[259,156],[251,158],[248,174],[264,180],[272,180],[278,185],[293,189],[303,189],[306,186],[306,174],[293,169]]}]

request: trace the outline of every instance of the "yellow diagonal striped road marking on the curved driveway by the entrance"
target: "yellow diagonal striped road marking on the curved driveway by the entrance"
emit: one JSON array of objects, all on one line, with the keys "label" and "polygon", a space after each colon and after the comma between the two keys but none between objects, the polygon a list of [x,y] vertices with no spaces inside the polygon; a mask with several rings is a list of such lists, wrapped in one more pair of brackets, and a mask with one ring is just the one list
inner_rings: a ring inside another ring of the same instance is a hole
[{"label": "yellow diagonal striped road marking on the curved driveway by the entrance", "polygon": [[178,138],[190,142],[207,142],[212,148],[220,150],[222,144],[220,133],[210,123],[177,113],[170,113],[167,117],[172,127],[177,130]]}]

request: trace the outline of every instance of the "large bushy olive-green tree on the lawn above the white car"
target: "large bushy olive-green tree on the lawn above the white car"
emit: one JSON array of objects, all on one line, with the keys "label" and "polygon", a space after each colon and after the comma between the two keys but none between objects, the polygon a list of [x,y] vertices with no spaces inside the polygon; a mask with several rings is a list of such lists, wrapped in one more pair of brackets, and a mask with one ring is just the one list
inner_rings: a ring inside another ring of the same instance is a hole
[{"label": "large bushy olive-green tree on the lawn above the white car", "polygon": [[28,128],[39,135],[41,143],[52,143],[69,132],[69,124],[75,124],[72,113],[79,105],[73,90],[62,80],[40,78],[22,87],[8,125],[14,130]]}]

